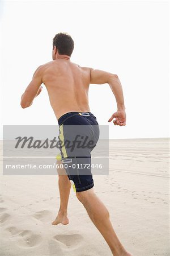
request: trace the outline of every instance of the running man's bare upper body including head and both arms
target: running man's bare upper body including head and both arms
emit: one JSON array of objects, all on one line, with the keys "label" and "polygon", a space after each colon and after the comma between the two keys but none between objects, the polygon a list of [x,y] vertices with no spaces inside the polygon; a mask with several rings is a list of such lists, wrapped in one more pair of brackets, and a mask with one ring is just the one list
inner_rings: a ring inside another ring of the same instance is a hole
[{"label": "running man's bare upper body including head and both arms", "polygon": [[114,125],[126,125],[126,113],[121,82],[117,75],[99,69],[82,68],[70,61],[74,49],[74,41],[70,35],[59,33],[53,38],[52,59],[41,65],[33,74],[22,95],[20,105],[28,108],[41,90],[44,82],[48,90],[50,104],[56,118],[68,112],[90,112],[88,105],[88,89],[90,84],[109,84],[116,97],[117,112],[108,122]]}]

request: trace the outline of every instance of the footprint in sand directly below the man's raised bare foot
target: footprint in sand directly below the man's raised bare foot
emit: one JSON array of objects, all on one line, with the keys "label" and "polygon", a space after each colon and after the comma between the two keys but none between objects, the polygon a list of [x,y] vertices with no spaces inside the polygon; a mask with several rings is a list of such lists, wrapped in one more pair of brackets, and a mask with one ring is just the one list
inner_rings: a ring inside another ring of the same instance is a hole
[{"label": "footprint in sand directly below the man's raised bare foot", "polygon": [[57,235],[53,237],[54,240],[61,242],[66,249],[75,249],[81,245],[83,237],[79,234],[70,234],[70,235]]}]

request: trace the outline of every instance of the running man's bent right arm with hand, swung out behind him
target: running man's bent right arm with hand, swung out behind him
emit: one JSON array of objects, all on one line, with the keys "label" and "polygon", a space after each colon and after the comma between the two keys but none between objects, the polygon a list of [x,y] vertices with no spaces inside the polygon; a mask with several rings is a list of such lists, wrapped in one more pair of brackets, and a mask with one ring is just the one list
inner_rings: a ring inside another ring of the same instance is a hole
[{"label": "running man's bent right arm with hand, swung out behind him", "polygon": [[109,84],[117,102],[117,112],[112,115],[109,122],[116,117],[114,125],[126,125],[126,113],[124,104],[124,94],[120,80],[117,75],[99,69],[90,69],[91,84]]}]

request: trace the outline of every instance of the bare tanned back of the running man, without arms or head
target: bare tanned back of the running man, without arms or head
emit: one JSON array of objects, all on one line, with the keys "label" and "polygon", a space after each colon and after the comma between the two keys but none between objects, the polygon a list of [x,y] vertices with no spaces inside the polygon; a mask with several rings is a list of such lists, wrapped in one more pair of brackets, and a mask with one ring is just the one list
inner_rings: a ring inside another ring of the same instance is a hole
[{"label": "bare tanned back of the running man, without arms or head", "polygon": [[42,66],[42,81],[57,119],[67,112],[89,112],[90,68],[69,59],[57,59]]}]

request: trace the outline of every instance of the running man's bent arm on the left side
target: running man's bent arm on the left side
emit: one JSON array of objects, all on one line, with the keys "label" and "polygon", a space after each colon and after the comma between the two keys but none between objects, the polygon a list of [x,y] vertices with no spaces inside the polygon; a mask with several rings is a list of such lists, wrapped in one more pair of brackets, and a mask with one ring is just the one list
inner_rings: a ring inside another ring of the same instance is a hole
[{"label": "running man's bent arm on the left side", "polygon": [[20,105],[23,109],[31,106],[33,99],[38,96],[42,90],[42,69],[42,65],[36,69],[35,73],[33,74],[32,81],[22,94]]}]

